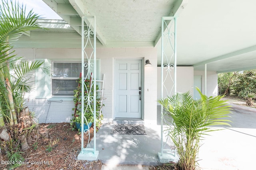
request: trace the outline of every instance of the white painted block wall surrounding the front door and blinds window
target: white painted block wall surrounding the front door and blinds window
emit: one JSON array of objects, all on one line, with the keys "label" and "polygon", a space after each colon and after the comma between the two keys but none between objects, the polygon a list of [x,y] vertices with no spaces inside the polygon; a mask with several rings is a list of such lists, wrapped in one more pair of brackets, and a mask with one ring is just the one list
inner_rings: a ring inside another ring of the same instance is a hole
[{"label": "white painted block wall surrounding the front door and blinds window", "polygon": [[[15,49],[23,59],[81,60],[81,49]],[[102,114],[105,122],[114,119],[114,63],[116,59],[142,59],[145,63],[150,60],[152,66],[142,68],[144,80],[144,106],[142,117],[145,121],[156,122],[157,100],[157,49],[148,48],[97,48],[96,58],[100,59],[100,76],[105,74],[104,98]],[[143,64],[144,65],[144,64]],[[144,69],[144,70],[143,70]],[[50,82],[48,82],[50,84]],[[52,97],[36,99],[35,93],[27,95],[27,105],[30,111],[35,111],[39,123],[69,122],[72,119],[73,97]],[[62,102],[60,102],[62,100]],[[52,101],[48,104],[48,101]],[[50,107],[49,107],[50,106]],[[144,114],[145,113],[145,114]],[[47,116],[47,120],[46,120]]]}]

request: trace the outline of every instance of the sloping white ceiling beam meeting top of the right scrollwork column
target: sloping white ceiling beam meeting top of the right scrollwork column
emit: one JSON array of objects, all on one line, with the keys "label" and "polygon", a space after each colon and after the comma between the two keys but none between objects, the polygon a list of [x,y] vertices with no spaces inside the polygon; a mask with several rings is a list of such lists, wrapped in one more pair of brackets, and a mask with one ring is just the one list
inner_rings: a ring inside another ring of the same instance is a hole
[{"label": "sloping white ceiling beam meeting top of the right scrollwork column", "polygon": [[[180,15],[180,13],[185,9],[187,4],[188,4],[188,0],[176,0],[174,5],[172,6],[169,16],[178,17]],[[166,21],[166,23],[168,26],[164,25],[164,31],[166,31],[166,29],[169,27],[170,21]],[[158,37],[155,40],[154,47],[156,47],[156,45],[158,45],[158,43],[160,43],[161,37],[162,37],[162,32],[160,31],[160,34],[158,35]]]}]

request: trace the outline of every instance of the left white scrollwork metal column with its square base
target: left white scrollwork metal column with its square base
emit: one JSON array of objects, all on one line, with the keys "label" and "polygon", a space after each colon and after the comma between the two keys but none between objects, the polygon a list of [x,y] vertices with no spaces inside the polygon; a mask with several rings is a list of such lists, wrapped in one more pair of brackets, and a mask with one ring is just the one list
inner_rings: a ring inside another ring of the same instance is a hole
[{"label": "left white scrollwork metal column with its square base", "polygon": [[[96,150],[96,18],[95,16],[82,16],[82,130],[81,130],[81,152],[78,154],[78,160],[97,160],[99,151]],[[86,25],[84,25],[86,23]],[[93,36],[93,38],[92,38]],[[92,42],[93,41],[93,42]],[[86,50],[86,48],[88,50]],[[84,63],[86,60],[87,63]],[[86,74],[84,69],[87,70]],[[92,73],[92,74],[91,74]],[[93,76],[92,76],[93,75]],[[84,86],[86,79],[91,79],[91,86]],[[84,89],[86,88],[86,89]],[[93,95],[91,93],[93,89]],[[84,92],[88,92],[84,95]],[[90,107],[91,104],[94,107]],[[86,104],[86,106],[84,106]],[[84,117],[84,113],[88,112],[88,109],[94,114],[94,145],[93,148],[87,148],[90,141],[90,127],[84,129],[84,123],[87,125],[90,120]],[[85,122],[84,122],[85,121]],[[84,143],[84,135],[88,135],[88,143]],[[84,147],[85,146],[85,147]]]}]

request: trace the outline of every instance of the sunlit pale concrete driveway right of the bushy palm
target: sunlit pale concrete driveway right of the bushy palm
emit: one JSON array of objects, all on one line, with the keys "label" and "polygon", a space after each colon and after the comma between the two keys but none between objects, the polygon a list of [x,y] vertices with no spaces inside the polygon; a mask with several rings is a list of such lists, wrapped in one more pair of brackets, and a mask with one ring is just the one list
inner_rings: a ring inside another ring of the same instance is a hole
[{"label": "sunlit pale concrete driveway right of the bushy palm", "polygon": [[212,127],[224,130],[210,132],[202,142],[199,166],[203,170],[256,169],[256,109],[230,105],[231,127]]}]

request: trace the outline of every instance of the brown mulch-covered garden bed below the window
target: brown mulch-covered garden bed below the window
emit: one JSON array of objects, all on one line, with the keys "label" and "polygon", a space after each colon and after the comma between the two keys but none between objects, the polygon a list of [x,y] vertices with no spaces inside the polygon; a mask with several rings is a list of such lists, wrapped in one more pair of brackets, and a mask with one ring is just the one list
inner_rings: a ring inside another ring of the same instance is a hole
[{"label": "brown mulch-covered garden bed below the window", "polygon": [[[48,131],[48,139],[40,139],[31,144],[22,154],[25,160],[19,162],[21,166],[15,170],[101,169],[100,161],[77,160],[81,150],[81,135],[78,135],[78,131],[71,131],[69,123],[40,124],[39,128]],[[93,135],[93,127],[90,132]],[[84,141],[88,141],[87,136],[84,136]],[[1,170],[9,168],[7,164],[0,164]]]}]

